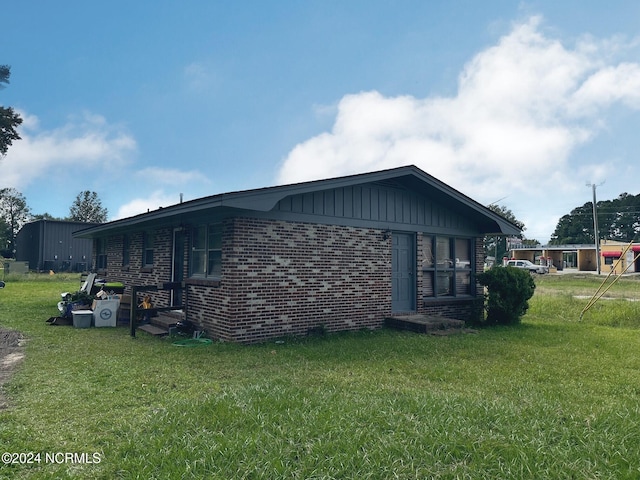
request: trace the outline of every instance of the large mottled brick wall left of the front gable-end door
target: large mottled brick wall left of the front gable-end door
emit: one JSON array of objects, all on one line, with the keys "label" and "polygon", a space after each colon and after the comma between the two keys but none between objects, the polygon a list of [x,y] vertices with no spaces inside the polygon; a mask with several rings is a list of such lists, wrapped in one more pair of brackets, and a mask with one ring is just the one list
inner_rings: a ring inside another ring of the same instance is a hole
[{"label": "large mottled brick wall left of the front gable-end door", "polygon": [[222,255],[220,287],[189,288],[189,319],[214,337],[378,328],[390,313],[380,230],[236,218],[224,225]]}]

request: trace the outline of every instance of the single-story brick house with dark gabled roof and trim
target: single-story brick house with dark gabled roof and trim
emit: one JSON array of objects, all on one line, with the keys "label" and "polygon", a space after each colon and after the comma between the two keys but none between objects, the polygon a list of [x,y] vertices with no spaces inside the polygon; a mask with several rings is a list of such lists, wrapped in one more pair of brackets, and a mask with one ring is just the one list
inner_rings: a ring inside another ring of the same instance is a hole
[{"label": "single-story brick house with dark gabled roof and trim", "polygon": [[503,217],[415,166],[225,193],[82,230],[127,289],[181,282],[207,335],[258,342],[379,328],[391,314],[481,314],[482,238]]}]

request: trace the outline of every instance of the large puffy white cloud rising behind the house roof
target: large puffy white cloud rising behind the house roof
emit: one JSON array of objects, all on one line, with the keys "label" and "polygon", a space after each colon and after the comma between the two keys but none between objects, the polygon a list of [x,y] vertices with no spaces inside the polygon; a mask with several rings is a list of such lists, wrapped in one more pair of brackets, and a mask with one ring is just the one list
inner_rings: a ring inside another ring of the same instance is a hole
[{"label": "large puffy white cloud rising behind the house roof", "polygon": [[479,201],[509,197],[527,231],[550,235],[545,202],[584,189],[578,169],[597,173],[572,154],[597,136],[603,109],[640,108],[640,65],[607,63],[624,51],[619,40],[570,48],[532,17],[467,63],[453,97],[345,95],[331,131],[296,145],[278,181],[415,164]]}]

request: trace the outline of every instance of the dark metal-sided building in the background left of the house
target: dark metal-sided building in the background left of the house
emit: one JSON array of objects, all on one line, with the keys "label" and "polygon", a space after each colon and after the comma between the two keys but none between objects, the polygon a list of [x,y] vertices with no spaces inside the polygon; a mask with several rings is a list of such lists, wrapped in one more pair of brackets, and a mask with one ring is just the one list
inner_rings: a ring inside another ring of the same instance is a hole
[{"label": "dark metal-sided building in the background left of the house", "polygon": [[86,272],[91,268],[93,242],[73,238],[73,233],[97,223],[36,220],[25,224],[16,236],[16,260],[29,269],[54,272]]}]

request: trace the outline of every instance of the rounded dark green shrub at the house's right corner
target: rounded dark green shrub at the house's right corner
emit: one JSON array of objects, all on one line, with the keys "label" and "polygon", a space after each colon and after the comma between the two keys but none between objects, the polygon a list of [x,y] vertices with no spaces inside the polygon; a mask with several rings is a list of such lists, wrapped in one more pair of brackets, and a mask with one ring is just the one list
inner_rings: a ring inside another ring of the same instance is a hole
[{"label": "rounded dark green shrub at the house's right corner", "polygon": [[487,287],[487,325],[520,323],[529,308],[536,284],[527,270],[515,267],[494,267],[477,276],[478,283]]}]

